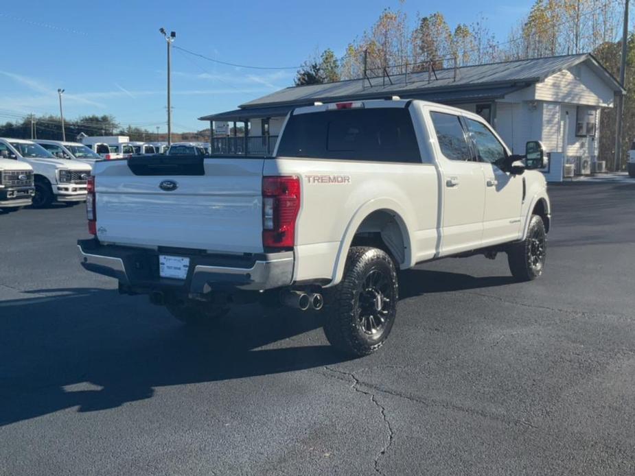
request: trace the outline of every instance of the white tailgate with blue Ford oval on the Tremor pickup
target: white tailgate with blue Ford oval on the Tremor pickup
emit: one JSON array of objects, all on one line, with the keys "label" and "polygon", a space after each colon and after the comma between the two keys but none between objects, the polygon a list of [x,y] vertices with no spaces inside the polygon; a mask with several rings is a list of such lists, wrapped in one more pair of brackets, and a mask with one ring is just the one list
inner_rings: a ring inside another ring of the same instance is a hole
[{"label": "white tailgate with blue Ford oval on the Tremor pickup", "polygon": [[148,160],[95,167],[100,241],[262,252],[264,159],[198,158],[198,167],[185,168],[174,163],[178,157],[157,157],[158,165],[147,165]]}]

